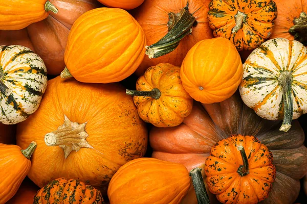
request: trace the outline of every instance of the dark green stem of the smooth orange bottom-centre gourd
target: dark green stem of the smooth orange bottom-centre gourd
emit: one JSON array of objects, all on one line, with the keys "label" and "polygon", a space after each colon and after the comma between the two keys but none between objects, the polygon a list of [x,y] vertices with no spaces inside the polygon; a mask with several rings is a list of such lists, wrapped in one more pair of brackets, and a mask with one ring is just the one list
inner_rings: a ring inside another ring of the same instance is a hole
[{"label": "dark green stem of the smooth orange bottom-centre gourd", "polygon": [[209,196],[206,191],[205,183],[202,176],[202,169],[201,168],[192,169],[190,171],[190,176],[192,177],[192,183],[195,189],[198,204],[210,203]]}]

